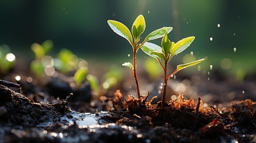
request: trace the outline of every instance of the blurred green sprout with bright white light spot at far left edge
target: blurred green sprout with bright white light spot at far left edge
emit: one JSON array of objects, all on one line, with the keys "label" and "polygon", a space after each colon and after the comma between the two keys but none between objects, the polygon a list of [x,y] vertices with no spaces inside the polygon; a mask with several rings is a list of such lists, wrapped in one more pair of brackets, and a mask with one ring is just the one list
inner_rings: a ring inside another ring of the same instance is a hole
[{"label": "blurred green sprout with bright white light spot at far left edge", "polygon": [[15,65],[16,57],[11,53],[9,46],[0,46],[0,73],[7,74]]}]

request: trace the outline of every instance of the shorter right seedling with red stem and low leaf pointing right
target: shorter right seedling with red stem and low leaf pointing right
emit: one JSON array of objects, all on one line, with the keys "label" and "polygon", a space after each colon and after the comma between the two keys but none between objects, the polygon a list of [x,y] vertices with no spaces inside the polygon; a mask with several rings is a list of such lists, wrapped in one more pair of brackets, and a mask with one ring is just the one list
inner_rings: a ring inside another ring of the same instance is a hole
[{"label": "shorter right seedling with red stem and low leaf pointing right", "polygon": [[[200,59],[195,62],[187,63],[187,64],[181,64],[177,66],[177,69],[169,76],[167,76],[167,64],[170,61],[170,59],[182,51],[184,51],[186,48],[190,46],[190,44],[193,42],[195,37],[186,37],[177,43],[171,42],[168,39],[168,31],[166,29],[165,35],[162,39],[161,46],[159,47],[156,44],[146,42],[143,46],[141,46],[141,50],[144,51],[147,55],[154,57],[159,62],[160,66],[164,70],[164,89],[163,89],[163,95],[162,95],[162,102],[161,102],[161,108],[164,108],[165,103],[165,97],[166,97],[166,89],[167,89],[167,81],[170,77],[173,77],[175,73],[177,73],[179,70],[182,70],[183,68],[193,66],[195,64],[198,64],[204,59]],[[164,65],[161,62],[161,59],[163,60]]]}]

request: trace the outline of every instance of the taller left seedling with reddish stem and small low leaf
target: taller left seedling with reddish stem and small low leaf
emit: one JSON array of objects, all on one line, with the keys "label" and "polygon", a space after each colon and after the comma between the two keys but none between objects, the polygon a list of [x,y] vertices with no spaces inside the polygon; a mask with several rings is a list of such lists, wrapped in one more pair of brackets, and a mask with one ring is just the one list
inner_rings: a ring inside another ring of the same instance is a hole
[{"label": "taller left seedling with reddish stem and small low leaf", "polygon": [[[161,29],[157,29],[157,30],[151,32],[150,34],[148,34],[146,36],[146,38],[144,39],[144,41],[141,42],[140,36],[146,28],[146,23],[145,23],[145,19],[144,19],[143,15],[139,15],[136,18],[135,22],[132,24],[132,34],[130,33],[129,29],[121,22],[118,22],[115,20],[108,20],[108,25],[115,33],[117,33],[121,37],[124,37],[132,45],[133,64],[126,62],[122,65],[127,66],[131,69],[132,75],[135,78],[138,99],[140,101],[139,83],[138,83],[137,74],[136,74],[136,53],[144,43],[146,43],[150,40],[154,40],[154,39],[163,37],[166,29],[167,29],[167,32],[169,33],[172,31],[173,28],[172,27],[163,27]],[[132,37],[133,37],[133,39],[132,39]]]}]

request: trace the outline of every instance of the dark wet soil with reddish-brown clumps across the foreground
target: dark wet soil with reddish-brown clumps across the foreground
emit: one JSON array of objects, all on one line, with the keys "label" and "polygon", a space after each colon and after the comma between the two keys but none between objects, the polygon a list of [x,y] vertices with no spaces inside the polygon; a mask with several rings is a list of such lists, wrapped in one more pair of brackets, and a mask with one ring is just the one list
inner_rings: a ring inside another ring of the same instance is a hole
[{"label": "dark wet soil with reddish-brown clumps across the foreground", "polygon": [[161,109],[159,103],[151,105],[152,100],[139,103],[130,96],[125,100],[117,91],[110,99],[114,110],[91,114],[70,110],[69,99],[34,101],[2,85],[0,98],[0,142],[4,143],[256,142],[256,113],[250,99],[216,109],[203,107],[200,98],[196,102],[179,95]]}]

